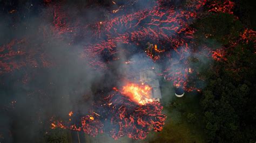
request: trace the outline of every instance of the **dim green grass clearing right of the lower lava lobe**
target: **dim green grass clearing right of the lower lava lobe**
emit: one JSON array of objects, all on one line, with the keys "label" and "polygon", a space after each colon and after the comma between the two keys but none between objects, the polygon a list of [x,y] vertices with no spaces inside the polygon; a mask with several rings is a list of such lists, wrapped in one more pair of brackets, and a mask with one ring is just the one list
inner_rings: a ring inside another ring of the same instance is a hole
[{"label": "dim green grass clearing right of the lower lava lobe", "polygon": [[150,133],[144,141],[206,142],[203,116],[199,103],[200,95],[186,92],[184,97],[179,98],[174,95],[172,83],[162,82],[161,85],[163,85],[161,87],[162,101],[167,119],[163,131]]}]

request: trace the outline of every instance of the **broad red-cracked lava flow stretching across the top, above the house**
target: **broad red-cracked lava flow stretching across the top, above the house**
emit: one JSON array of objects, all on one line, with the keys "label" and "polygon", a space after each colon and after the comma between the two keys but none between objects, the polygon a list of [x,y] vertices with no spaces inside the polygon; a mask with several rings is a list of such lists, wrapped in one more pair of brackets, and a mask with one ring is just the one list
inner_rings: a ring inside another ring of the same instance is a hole
[{"label": "broad red-cracked lava flow stretching across the top, above the house", "polygon": [[[119,59],[117,55],[120,51],[134,54],[130,49],[137,46],[154,62],[165,65],[159,75],[166,77],[166,80],[173,81],[173,85],[180,84],[185,89],[194,88],[186,87],[188,76],[186,70],[189,68],[186,55],[191,54],[194,47],[198,47],[194,45],[195,30],[190,27],[190,23],[201,17],[201,10],[205,6],[209,9],[208,12],[230,14],[234,6],[234,3],[228,0],[224,2],[200,0],[188,1],[185,8],[177,10],[174,6],[165,6],[170,1],[158,0],[152,1],[156,3],[152,8],[120,15],[112,13],[110,19],[84,24],[80,20],[72,19],[71,13],[66,12],[63,6],[64,2],[54,3],[46,0],[44,2],[53,10],[52,15],[49,15],[53,19],[52,25],[42,25],[36,33],[40,36],[31,35],[31,37],[41,37],[41,35],[43,39],[53,37],[66,40],[69,45],[72,45],[75,39],[84,38],[86,45],[83,45],[84,51],[80,53],[80,57],[88,60],[90,66],[97,70],[106,69],[106,61]],[[54,57],[49,57],[44,52],[43,47],[47,42],[31,45],[29,38],[24,38],[28,40],[14,40],[0,47],[0,56],[3,59],[0,62],[0,74],[22,67],[48,68],[55,64],[54,60],[51,60]],[[125,48],[118,51],[118,44],[124,44]],[[6,49],[10,52],[6,53]],[[210,53],[208,57],[211,58],[212,51],[208,53]],[[100,55],[103,55],[106,61],[99,60]],[[16,57],[21,60],[14,60]]]}]

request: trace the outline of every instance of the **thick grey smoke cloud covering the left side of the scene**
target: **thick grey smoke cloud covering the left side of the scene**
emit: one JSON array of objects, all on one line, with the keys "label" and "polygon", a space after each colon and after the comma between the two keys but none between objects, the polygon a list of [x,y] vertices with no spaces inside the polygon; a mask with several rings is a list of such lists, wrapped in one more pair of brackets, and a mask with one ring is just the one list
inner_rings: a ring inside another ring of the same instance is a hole
[{"label": "thick grey smoke cloud covering the left side of the scene", "polygon": [[[90,110],[93,86],[103,76],[80,58],[82,42],[70,45],[69,39],[58,39],[48,32],[50,28],[45,26],[52,25],[52,20],[47,19],[52,9],[43,5],[37,8],[41,12],[29,16],[23,9],[14,15],[9,11],[1,13],[1,46],[17,39],[10,48],[24,54],[3,59],[17,63],[14,66],[18,69],[11,67],[14,69],[1,75],[0,142],[44,142],[52,116],[65,118],[70,111],[85,115]],[[46,33],[38,32],[41,30]],[[10,54],[8,47],[4,48],[6,55]]]}]

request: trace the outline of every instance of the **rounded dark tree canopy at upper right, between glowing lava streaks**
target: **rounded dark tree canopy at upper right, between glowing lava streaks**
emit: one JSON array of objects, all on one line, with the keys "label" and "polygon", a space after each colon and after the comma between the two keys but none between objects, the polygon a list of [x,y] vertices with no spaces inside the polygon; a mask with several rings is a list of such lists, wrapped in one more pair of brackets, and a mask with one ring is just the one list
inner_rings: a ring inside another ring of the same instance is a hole
[{"label": "rounded dark tree canopy at upper right, between glowing lava streaks", "polygon": [[228,13],[210,13],[192,24],[196,28],[195,38],[201,44],[211,48],[227,45],[237,39],[243,30],[242,23]]}]

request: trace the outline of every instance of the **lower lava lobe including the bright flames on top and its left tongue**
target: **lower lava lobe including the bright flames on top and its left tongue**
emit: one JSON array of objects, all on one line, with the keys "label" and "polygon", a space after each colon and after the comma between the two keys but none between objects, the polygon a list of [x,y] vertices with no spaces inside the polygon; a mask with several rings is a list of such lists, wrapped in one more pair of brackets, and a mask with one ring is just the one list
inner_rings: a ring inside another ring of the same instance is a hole
[{"label": "lower lava lobe including the bright flames on top and its left tongue", "polygon": [[113,94],[96,102],[94,112],[82,117],[78,125],[53,121],[52,128],[83,131],[93,137],[106,132],[114,139],[125,135],[133,139],[145,139],[150,131],[163,130],[166,119],[166,115],[161,113],[163,106],[147,99],[150,98],[147,95],[150,89],[149,85],[135,83],[124,85],[120,92],[114,88]]}]

